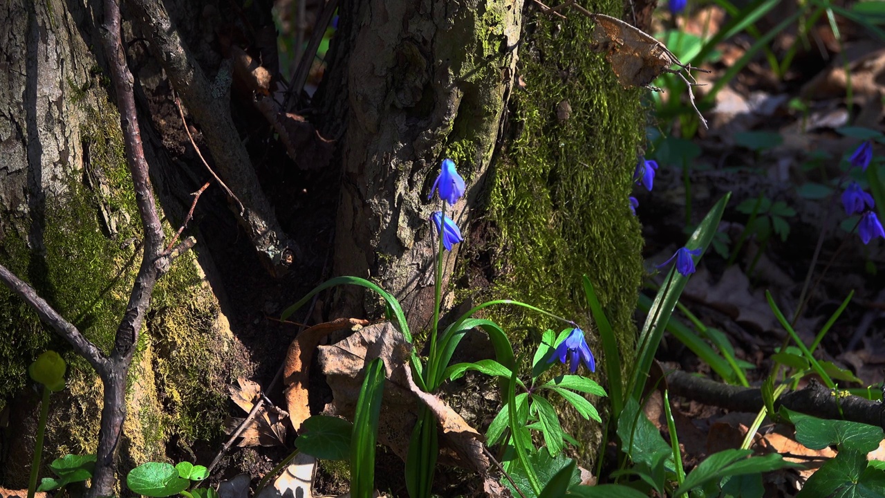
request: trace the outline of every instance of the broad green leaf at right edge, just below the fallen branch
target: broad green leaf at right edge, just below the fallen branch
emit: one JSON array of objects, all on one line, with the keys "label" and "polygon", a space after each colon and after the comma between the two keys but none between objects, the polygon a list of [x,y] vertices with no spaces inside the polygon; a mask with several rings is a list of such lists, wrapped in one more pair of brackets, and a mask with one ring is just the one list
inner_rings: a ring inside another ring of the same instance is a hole
[{"label": "broad green leaf at right edge, just below the fallen branch", "polygon": [[869,453],[879,447],[881,427],[848,420],[827,420],[781,407],[796,426],[796,440],[812,449],[839,445],[840,450]]}]

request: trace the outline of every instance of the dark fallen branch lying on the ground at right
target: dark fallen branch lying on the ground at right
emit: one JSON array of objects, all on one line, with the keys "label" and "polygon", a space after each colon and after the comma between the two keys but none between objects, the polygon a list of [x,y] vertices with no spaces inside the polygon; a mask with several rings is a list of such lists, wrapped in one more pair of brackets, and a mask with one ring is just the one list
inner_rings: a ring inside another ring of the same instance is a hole
[{"label": "dark fallen branch lying on the ground at right", "polygon": [[[673,395],[723,409],[754,412],[765,406],[758,389],[722,384],[681,370],[667,374],[666,380]],[[781,406],[820,418],[849,420],[885,429],[885,405],[859,396],[838,396],[814,379],[798,391],[781,394],[774,401],[774,409]]]}]

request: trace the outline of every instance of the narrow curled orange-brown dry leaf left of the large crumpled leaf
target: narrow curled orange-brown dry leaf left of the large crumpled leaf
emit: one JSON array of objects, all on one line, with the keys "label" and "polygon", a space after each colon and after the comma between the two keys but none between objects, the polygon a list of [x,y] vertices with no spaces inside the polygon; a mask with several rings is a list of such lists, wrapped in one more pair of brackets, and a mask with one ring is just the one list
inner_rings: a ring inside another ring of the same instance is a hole
[{"label": "narrow curled orange-brown dry leaf left of the large crumpled leaf", "polygon": [[308,406],[307,386],[313,361],[313,352],[319,341],[328,334],[345,329],[358,330],[368,324],[357,318],[338,318],[332,322],[319,323],[300,332],[289,344],[282,370],[282,384],[286,395],[286,409],[296,431],[311,416]]}]

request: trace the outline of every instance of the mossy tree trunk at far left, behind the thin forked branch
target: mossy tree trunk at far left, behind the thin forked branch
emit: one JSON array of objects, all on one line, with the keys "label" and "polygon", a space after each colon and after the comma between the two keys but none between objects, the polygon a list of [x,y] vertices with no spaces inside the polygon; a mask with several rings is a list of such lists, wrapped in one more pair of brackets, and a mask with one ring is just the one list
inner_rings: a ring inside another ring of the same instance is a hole
[{"label": "mossy tree trunk at far left, behind the thin forked branch", "polygon": [[[92,12],[76,8],[54,0],[0,7],[0,52],[11,61],[0,80],[0,263],[107,350],[141,260],[142,228],[119,114],[90,53],[99,44],[89,38]],[[235,343],[191,255],[175,261],[154,296],[129,378],[124,467],[162,460],[173,434],[186,444],[218,434],[224,385],[235,375]],[[68,351],[0,288],[0,407],[13,421],[0,453],[4,486],[27,486],[27,365],[48,347]],[[48,461],[96,448],[101,382],[87,362],[70,352],[65,359],[68,388],[53,398]]]}]

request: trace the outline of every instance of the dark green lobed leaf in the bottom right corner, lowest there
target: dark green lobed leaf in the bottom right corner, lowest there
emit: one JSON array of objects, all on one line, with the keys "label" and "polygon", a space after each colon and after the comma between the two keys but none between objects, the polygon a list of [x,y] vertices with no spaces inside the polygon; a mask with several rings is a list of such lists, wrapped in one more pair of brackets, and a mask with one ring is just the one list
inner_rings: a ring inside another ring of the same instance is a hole
[{"label": "dark green lobed leaf in the bottom right corner, lowest there", "polygon": [[881,498],[885,472],[869,467],[866,455],[840,451],[808,478],[797,498]]}]

